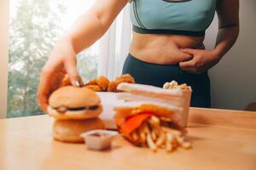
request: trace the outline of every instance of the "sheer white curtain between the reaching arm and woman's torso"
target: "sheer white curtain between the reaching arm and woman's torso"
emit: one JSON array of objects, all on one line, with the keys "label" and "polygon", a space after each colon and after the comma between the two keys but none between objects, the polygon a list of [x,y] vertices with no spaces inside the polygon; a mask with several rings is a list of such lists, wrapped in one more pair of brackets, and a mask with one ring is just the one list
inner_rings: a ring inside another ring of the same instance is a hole
[{"label": "sheer white curtain between the reaching arm and woman's torso", "polygon": [[129,4],[125,6],[112,26],[99,40],[98,75],[113,80],[121,74],[131,42]]}]

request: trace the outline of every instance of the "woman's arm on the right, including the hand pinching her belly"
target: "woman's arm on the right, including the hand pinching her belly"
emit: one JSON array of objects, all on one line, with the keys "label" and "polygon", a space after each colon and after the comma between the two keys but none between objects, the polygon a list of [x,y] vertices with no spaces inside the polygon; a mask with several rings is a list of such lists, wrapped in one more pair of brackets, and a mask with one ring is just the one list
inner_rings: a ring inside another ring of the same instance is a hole
[{"label": "woman's arm on the right, including the hand pinching her belly", "polygon": [[183,71],[201,73],[212,68],[236,42],[239,34],[239,0],[218,0],[218,37],[213,50],[182,49],[193,59],[180,62]]}]

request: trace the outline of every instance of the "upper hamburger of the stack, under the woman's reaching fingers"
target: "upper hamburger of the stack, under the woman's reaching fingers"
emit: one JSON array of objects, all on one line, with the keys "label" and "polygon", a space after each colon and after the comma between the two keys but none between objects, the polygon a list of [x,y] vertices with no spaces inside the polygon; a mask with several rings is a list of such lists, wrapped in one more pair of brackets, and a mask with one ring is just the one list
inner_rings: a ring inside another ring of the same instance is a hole
[{"label": "upper hamburger of the stack, under the woman's reaching fingers", "polygon": [[89,119],[102,113],[100,98],[88,88],[65,86],[49,97],[49,116],[58,120]]}]

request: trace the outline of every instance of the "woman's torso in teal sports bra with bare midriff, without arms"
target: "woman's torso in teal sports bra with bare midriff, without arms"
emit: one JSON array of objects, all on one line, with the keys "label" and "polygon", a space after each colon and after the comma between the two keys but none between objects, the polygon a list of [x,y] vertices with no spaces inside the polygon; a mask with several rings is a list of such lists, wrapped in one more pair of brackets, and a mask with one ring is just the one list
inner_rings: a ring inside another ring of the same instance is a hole
[{"label": "woman's torso in teal sports bra with bare midriff, without arms", "polygon": [[134,0],[131,55],[161,65],[188,59],[180,48],[204,48],[204,31],[212,22],[215,8],[216,0]]}]

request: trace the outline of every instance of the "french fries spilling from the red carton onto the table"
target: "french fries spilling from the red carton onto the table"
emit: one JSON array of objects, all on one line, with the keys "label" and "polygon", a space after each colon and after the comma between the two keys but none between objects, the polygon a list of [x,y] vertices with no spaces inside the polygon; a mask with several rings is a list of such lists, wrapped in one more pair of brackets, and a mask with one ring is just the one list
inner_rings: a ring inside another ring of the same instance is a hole
[{"label": "french fries spilling from the red carton onto the table", "polygon": [[157,116],[151,116],[143,124],[130,134],[131,142],[145,146],[151,150],[165,149],[166,152],[172,152],[177,147],[184,149],[191,148],[191,143],[185,141],[183,134],[171,127],[161,125],[162,121],[170,121]]}]

